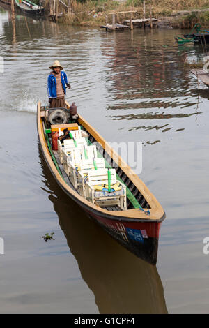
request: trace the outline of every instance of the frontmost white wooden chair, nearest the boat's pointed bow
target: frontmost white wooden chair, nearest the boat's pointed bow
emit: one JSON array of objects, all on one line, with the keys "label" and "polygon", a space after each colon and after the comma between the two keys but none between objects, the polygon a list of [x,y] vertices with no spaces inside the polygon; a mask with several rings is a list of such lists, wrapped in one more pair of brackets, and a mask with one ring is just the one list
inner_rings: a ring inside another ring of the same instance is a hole
[{"label": "frontmost white wooden chair, nearest the boat's pointed bow", "polygon": [[[91,170],[88,172],[88,181],[86,182],[86,200],[100,207],[118,205],[122,210],[127,209],[126,188],[121,181],[116,179],[116,170],[110,169],[111,174],[111,191],[108,191],[108,169]],[[105,186],[106,188],[102,188]],[[114,190],[118,186],[118,190]],[[121,187],[121,188],[120,188]],[[97,188],[102,190],[97,190]]]}]

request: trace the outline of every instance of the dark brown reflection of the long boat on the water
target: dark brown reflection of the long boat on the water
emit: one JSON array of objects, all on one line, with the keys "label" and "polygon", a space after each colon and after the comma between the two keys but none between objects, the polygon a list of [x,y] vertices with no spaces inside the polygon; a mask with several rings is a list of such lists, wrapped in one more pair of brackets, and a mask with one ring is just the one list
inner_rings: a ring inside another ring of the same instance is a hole
[{"label": "dark brown reflection of the long boat on the water", "polygon": [[41,151],[40,162],[49,200],[100,313],[167,313],[156,266],[127,251],[88,218],[56,184]]}]

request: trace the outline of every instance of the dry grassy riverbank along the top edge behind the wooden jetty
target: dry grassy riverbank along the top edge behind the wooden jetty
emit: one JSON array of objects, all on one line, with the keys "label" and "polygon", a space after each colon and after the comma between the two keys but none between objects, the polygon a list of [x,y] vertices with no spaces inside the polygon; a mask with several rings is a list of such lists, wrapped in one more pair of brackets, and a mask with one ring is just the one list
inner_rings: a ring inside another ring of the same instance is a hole
[{"label": "dry grassy riverbank along the top edge behind the wooden jetty", "polygon": [[[52,3],[52,0],[45,0],[47,15],[53,13],[53,8],[50,11],[50,1]],[[58,13],[62,13],[58,22],[63,24],[100,27],[106,24],[107,21],[111,24],[111,15],[108,15],[109,13],[129,10],[136,10],[136,13],[132,13],[132,19],[144,17],[142,0],[57,1],[59,3]],[[152,17],[157,18],[154,26],[181,29],[192,29],[196,23],[200,23],[203,27],[209,26],[208,0],[146,0],[145,3],[146,18],[150,17],[150,6],[152,8]],[[130,20],[130,13],[116,15],[116,22],[123,23],[124,20]]]}]

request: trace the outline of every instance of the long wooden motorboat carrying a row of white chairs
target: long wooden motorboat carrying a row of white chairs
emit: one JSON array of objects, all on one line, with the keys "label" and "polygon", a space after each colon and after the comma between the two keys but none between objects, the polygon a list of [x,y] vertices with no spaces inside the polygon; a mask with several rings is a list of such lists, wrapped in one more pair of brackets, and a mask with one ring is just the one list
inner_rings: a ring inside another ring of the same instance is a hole
[{"label": "long wooden motorboat carrying a row of white chairs", "polygon": [[156,264],[165,214],[137,174],[81,115],[70,121],[68,103],[49,108],[39,102],[37,129],[45,161],[66,195],[125,248]]}]

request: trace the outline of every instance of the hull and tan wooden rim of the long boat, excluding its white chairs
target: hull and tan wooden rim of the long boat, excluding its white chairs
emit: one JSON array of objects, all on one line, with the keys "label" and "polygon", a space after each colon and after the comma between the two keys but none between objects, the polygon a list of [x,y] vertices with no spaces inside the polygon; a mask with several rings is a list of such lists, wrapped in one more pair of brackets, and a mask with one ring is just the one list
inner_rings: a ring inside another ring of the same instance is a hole
[{"label": "hull and tan wooden rim of the long boat, excluding its white chairs", "polygon": [[[69,105],[67,104],[69,108]],[[122,160],[103,137],[79,115],[77,123],[88,133],[88,142],[98,144],[98,152],[105,158],[107,167],[115,167],[117,179],[126,187],[127,210],[119,207],[100,207],[79,195],[65,174],[57,151],[52,150],[50,132],[45,124],[46,107],[38,103],[37,128],[40,148],[45,161],[63,191],[91,216],[114,239],[139,258],[156,264],[160,225],[164,210],[137,174]],[[79,218],[78,218],[79,219]]]}]

